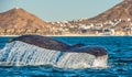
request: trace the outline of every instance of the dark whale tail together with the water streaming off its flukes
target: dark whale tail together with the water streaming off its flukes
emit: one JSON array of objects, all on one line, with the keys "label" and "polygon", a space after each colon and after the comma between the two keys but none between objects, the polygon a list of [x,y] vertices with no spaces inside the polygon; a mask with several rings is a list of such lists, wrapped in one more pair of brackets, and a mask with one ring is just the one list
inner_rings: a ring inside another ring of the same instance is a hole
[{"label": "dark whale tail together with the water streaming off its flukes", "polygon": [[0,64],[53,65],[62,68],[106,67],[108,54],[103,47],[70,46],[51,37],[22,35],[10,40],[0,51]]}]

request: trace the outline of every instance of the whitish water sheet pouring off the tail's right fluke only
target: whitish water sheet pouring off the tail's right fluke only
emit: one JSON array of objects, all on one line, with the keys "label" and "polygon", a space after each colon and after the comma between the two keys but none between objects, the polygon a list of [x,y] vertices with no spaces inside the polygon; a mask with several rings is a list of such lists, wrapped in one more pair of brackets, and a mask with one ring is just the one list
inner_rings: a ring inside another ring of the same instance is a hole
[{"label": "whitish water sheet pouring off the tail's right fluke only", "polygon": [[96,59],[95,56],[86,53],[66,53],[57,65],[65,68],[86,68],[92,66],[94,59]]}]

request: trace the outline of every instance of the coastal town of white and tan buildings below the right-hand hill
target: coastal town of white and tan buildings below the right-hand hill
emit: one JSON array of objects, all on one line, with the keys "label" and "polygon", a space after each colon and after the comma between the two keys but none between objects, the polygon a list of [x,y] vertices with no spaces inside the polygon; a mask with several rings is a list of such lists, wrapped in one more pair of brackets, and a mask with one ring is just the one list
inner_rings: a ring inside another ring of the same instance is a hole
[{"label": "coastal town of white and tan buildings below the right-hand hill", "polygon": [[[81,19],[87,20],[87,19]],[[78,21],[81,21],[78,20]],[[132,20],[131,19],[114,19],[106,21],[103,23],[70,23],[64,22],[52,22],[55,28],[50,28],[53,34],[70,35],[132,35]]]}]

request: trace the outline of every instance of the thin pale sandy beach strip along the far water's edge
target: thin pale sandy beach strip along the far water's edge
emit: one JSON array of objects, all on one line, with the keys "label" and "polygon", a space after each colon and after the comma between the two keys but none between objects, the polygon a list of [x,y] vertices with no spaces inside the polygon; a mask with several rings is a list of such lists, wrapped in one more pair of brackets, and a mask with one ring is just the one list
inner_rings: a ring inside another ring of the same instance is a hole
[{"label": "thin pale sandy beach strip along the far water's edge", "polygon": [[[0,37],[15,37],[15,36],[21,36],[21,35],[0,35]],[[56,37],[59,37],[59,36],[62,36],[62,37],[65,37],[65,36],[69,36],[69,37],[77,36],[77,37],[81,37],[81,36],[132,36],[132,35],[77,35],[77,34],[73,34],[72,35],[70,34],[70,35],[42,35],[42,36],[56,36]]]}]

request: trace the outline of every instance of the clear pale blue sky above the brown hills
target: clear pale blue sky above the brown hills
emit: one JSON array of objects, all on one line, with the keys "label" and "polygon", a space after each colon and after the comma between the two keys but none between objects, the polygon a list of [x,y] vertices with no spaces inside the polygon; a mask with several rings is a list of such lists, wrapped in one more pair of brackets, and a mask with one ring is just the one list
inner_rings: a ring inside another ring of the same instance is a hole
[{"label": "clear pale blue sky above the brown hills", "polygon": [[0,0],[0,13],[15,6],[44,21],[72,21],[94,18],[123,0]]}]

